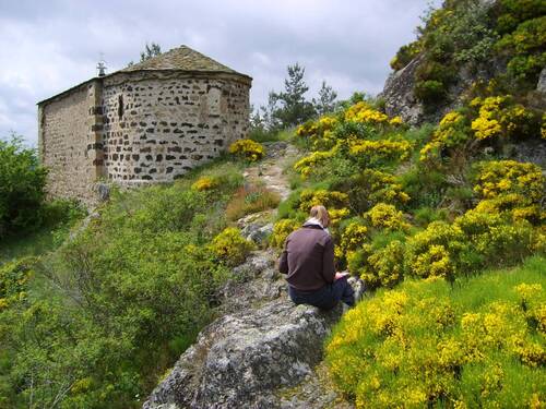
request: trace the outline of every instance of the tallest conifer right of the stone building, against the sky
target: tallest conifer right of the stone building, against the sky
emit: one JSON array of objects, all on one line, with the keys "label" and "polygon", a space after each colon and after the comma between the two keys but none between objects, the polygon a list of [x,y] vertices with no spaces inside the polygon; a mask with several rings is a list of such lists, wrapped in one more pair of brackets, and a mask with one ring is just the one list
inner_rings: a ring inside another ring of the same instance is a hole
[{"label": "tallest conifer right of the stone building, against the sky", "polygon": [[[284,93],[270,93],[271,116],[283,128],[300,124],[314,116],[314,107],[305,94],[309,87],[304,81],[305,68],[298,63],[288,65],[288,77],[284,81]],[[276,107],[280,103],[281,107]]]}]

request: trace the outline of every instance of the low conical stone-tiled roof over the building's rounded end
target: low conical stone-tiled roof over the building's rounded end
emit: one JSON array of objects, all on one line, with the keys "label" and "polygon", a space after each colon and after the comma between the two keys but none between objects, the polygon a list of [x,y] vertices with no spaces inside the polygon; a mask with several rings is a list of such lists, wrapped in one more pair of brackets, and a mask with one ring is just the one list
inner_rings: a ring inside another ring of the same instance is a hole
[{"label": "low conical stone-tiled roof over the building's rounded end", "polygon": [[127,67],[123,70],[120,70],[120,72],[141,70],[206,71],[239,74],[237,71],[234,71],[230,68],[221,64],[212,58],[209,58],[187,46],[174,48],[170,51],[153,57],[146,61]]}]

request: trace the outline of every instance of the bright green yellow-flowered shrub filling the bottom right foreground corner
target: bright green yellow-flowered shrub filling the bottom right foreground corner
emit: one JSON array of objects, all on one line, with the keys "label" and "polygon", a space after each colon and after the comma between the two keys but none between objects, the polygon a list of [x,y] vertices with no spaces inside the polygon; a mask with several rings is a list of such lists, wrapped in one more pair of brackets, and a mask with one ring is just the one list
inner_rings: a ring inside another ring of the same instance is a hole
[{"label": "bright green yellow-flowered shrub filling the bottom right foreground corner", "polygon": [[544,316],[545,262],[360,302],[327,344],[336,385],[357,408],[541,407],[545,333],[530,316]]}]

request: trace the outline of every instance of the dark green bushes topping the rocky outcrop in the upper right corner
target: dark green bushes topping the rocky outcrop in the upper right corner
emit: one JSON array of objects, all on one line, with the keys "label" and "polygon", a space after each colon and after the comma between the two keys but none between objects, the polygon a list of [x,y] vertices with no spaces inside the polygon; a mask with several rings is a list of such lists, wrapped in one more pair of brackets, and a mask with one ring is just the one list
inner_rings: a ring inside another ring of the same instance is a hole
[{"label": "dark green bushes topping the rocky outcrop in the upper right corner", "polygon": [[546,5],[542,0],[447,0],[431,10],[417,39],[401,47],[391,67],[420,57],[415,95],[429,111],[449,96],[460,73],[495,79],[505,93],[524,96],[546,65]]}]

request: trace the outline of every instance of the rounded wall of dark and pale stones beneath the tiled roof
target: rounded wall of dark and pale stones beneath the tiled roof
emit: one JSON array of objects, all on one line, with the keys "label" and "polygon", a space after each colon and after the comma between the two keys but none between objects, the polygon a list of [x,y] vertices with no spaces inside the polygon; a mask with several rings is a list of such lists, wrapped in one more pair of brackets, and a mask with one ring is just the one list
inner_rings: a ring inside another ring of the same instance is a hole
[{"label": "rounded wall of dark and pale stones beneath the tiled roof", "polygon": [[246,136],[250,81],[136,72],[105,79],[104,165],[121,185],[171,181]]}]

